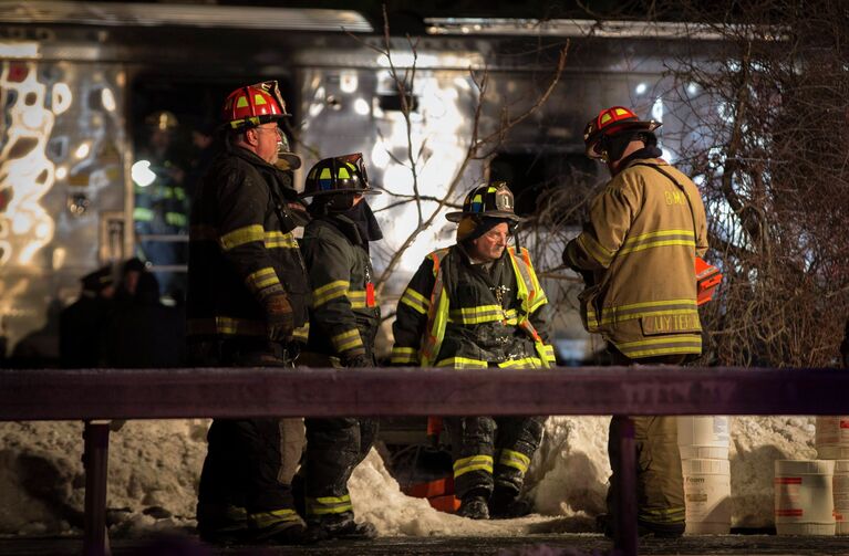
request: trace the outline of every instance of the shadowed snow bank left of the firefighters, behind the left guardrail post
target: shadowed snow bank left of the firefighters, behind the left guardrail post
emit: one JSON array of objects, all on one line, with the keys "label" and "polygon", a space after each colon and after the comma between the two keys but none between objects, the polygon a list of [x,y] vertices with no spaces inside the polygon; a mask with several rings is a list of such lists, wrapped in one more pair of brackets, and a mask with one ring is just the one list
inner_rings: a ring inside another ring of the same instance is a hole
[{"label": "shadowed snow bank left of the firefighters, behind the left guardrail post", "polygon": [[[208,422],[130,421],[112,432],[107,520],[146,526],[194,520]],[[81,422],[0,423],[0,534],[82,527],[82,432]]]}]

